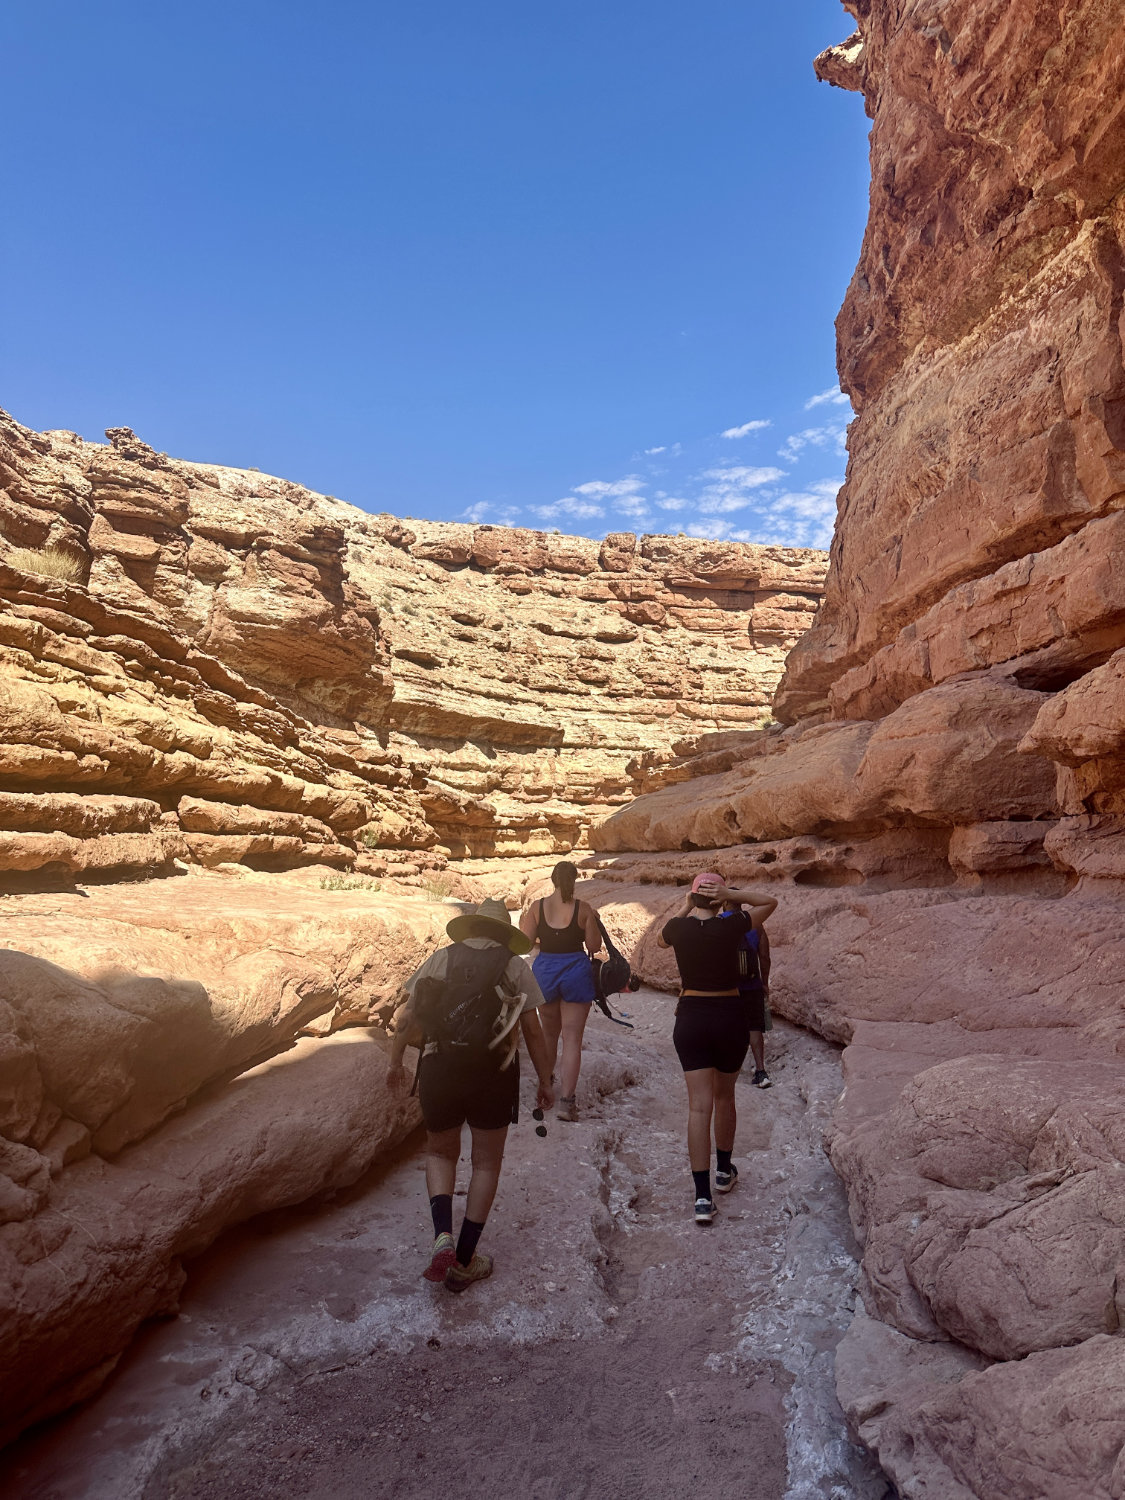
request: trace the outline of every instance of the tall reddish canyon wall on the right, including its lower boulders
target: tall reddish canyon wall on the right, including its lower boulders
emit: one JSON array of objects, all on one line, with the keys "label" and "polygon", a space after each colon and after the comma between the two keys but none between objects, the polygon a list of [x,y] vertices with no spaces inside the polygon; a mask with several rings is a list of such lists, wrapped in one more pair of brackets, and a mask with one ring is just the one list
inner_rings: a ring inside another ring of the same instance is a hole
[{"label": "tall reddish canyon wall on the right, including its lower boulders", "polygon": [[849,434],[782,726],[656,766],[591,891],[778,896],[774,1002],[848,1042],[837,1360],[908,1497],[1122,1492],[1125,30],[1118,3],[854,0],[872,117]]}]

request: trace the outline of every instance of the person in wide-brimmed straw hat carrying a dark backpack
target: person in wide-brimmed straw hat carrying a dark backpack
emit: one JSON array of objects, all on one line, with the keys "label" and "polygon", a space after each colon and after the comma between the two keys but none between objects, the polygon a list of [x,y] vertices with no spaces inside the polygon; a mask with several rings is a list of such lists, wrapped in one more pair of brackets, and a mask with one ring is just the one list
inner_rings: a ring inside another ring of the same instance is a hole
[{"label": "person in wide-brimmed straw hat carrying a dark backpack", "polygon": [[[519,1038],[538,1074],[537,1104],[555,1102],[550,1059],[536,1014],[543,992],[520,954],[531,944],[513,927],[502,902],[482,902],[446,926],[453,939],[406,980],[406,1004],[396,1017],[387,1084],[406,1089],[402,1059],[420,1047],[418,1104],[426,1124],[426,1188],[434,1218],[434,1246],[423,1270],[464,1292],[492,1274],[492,1260],[477,1251],[504,1160],[508,1125],[519,1114]],[[465,1218],[453,1240],[453,1190],[460,1132],[472,1136],[472,1176]]]}]

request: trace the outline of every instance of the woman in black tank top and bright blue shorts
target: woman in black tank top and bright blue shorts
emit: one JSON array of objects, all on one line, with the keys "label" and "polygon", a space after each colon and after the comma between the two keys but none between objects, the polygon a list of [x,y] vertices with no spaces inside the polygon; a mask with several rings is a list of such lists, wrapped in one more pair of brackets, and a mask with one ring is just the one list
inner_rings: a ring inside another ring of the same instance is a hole
[{"label": "woman in black tank top and bright blue shorts", "polygon": [[520,930],[538,944],[531,970],[546,1000],[538,1016],[552,1068],[560,1040],[562,1042],[558,1100],[561,1120],[578,1119],[574,1090],[582,1066],[582,1034],[596,999],[590,960],[602,948],[602,933],[592,909],[586,902],[574,898],[576,879],[578,868],[568,860],[561,860],[550,872],[555,890],[542,902],[534,902],[519,920]]}]

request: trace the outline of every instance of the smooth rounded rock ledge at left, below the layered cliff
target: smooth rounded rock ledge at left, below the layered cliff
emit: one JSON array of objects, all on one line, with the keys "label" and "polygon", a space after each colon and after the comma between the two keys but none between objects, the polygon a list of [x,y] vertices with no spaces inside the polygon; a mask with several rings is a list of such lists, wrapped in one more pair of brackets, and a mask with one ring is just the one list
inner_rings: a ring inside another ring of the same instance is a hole
[{"label": "smooth rounded rock ledge at left, below the layered cliff", "polygon": [[322,1034],[386,1022],[448,916],[252,874],[6,897],[0,1442],[98,1388],[182,1257],[417,1125],[378,1032]]}]

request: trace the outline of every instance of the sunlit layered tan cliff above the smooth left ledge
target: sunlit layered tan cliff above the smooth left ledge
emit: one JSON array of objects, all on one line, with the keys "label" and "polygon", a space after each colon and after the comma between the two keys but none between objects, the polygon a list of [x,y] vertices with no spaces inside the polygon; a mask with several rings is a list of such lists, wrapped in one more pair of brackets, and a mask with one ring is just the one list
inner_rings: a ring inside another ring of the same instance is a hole
[{"label": "sunlit layered tan cliff above the smooth left ledge", "polygon": [[822,592],[816,550],[402,522],[108,436],[0,417],[0,872],[582,846],[645,752],[768,717]]}]

